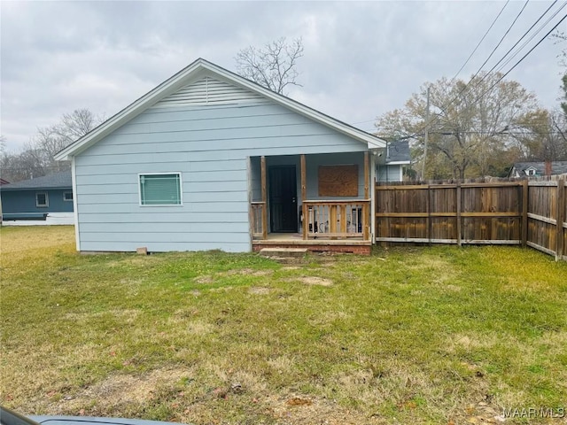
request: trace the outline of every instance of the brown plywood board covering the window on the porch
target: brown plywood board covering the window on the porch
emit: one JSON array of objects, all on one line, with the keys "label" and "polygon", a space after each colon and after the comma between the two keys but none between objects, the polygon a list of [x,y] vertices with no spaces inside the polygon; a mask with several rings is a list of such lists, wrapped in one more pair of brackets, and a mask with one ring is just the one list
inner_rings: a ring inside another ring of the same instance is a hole
[{"label": "brown plywood board covering the window on the porch", "polygon": [[358,166],[319,166],[320,197],[358,197]]}]

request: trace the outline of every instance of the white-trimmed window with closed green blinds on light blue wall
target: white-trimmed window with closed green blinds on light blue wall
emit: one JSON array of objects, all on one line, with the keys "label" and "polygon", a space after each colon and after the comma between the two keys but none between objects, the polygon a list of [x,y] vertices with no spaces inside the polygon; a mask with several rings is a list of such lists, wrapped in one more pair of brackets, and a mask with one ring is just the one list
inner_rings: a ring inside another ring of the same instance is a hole
[{"label": "white-trimmed window with closed green blinds on light blue wall", "polygon": [[182,205],[181,173],[139,174],[140,205]]}]

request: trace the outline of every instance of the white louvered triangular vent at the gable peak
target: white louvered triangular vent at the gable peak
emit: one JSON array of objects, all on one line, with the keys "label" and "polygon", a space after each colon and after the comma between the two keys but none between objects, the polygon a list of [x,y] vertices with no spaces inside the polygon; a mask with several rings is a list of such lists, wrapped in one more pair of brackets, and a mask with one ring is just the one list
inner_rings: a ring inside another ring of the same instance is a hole
[{"label": "white louvered triangular vent at the gable peak", "polygon": [[205,77],[161,99],[154,107],[266,102],[264,97],[227,82]]}]

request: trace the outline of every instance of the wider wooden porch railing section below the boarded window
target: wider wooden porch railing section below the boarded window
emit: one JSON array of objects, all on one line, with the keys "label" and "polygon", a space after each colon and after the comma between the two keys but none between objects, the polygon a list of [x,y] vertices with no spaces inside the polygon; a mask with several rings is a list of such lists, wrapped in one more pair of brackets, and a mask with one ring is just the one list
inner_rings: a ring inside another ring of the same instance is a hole
[{"label": "wider wooden porch railing section below the boarded window", "polygon": [[369,240],[368,199],[304,201],[303,205],[304,239]]}]

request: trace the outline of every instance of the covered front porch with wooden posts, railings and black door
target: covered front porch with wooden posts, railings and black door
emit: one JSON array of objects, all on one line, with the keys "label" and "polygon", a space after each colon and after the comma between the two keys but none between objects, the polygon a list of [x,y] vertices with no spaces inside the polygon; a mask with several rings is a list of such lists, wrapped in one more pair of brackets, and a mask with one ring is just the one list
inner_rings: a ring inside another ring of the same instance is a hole
[{"label": "covered front porch with wooden posts, railings and black door", "polygon": [[368,151],[250,158],[252,250],[369,253]]}]

